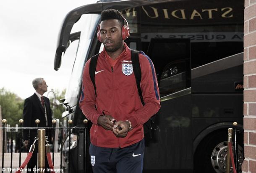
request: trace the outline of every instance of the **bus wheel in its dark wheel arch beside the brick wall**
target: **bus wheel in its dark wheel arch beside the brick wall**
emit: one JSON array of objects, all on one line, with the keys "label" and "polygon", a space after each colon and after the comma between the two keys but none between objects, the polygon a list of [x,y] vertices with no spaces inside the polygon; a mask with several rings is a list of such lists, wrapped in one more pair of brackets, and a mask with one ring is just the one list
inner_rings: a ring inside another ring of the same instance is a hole
[{"label": "bus wheel in its dark wheel arch beside the brick wall", "polygon": [[[241,133],[242,134],[242,133]],[[238,134],[239,172],[243,163],[243,135]],[[218,130],[206,136],[194,153],[194,173],[226,173],[227,130]],[[230,173],[232,173],[231,171]]]}]

